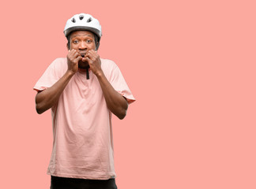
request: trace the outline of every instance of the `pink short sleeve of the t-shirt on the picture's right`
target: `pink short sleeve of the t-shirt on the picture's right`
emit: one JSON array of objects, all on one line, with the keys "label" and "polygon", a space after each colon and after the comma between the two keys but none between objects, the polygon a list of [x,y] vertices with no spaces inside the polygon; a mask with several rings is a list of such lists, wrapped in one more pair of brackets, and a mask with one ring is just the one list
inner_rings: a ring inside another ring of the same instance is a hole
[{"label": "pink short sleeve of the t-shirt on the picture's right", "polygon": [[111,72],[110,83],[112,87],[114,87],[115,91],[118,91],[119,94],[126,98],[129,104],[135,101],[134,95],[132,95],[126,80],[123,78],[122,72],[117,65],[115,65]]}]

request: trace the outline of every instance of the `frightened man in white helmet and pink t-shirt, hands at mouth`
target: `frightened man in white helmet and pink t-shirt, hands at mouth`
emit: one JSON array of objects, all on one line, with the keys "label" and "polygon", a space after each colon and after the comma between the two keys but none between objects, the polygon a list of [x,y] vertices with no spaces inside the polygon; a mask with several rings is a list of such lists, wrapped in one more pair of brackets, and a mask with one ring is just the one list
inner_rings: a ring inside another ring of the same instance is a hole
[{"label": "frightened man in white helmet and pink t-shirt, hands at mouth", "polygon": [[52,113],[51,188],[117,188],[111,113],[126,117],[134,96],[117,65],[97,54],[98,20],[76,14],[64,34],[67,56],[53,61],[34,87],[37,113]]}]

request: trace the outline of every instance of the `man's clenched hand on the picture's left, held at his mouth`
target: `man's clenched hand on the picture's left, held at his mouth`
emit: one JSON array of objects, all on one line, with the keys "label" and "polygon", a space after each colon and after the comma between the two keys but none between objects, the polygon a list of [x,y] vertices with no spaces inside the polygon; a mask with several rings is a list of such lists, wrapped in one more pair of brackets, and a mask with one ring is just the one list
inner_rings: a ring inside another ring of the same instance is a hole
[{"label": "man's clenched hand on the picture's left, held at his mouth", "polygon": [[78,61],[81,61],[82,57],[77,52],[77,50],[69,50],[69,53],[66,55],[67,57],[67,64],[68,64],[68,70],[72,72],[73,74],[77,72],[78,70]]}]

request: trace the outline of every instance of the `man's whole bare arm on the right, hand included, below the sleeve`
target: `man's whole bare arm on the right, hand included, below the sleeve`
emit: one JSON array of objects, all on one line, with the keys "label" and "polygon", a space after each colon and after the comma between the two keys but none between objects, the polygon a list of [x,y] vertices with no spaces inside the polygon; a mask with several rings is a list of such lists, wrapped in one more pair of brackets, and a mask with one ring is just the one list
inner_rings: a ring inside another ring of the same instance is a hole
[{"label": "man's whole bare arm on the right, hand included, below the sleeve", "polygon": [[89,50],[86,54],[88,64],[92,72],[97,76],[100,87],[104,93],[104,98],[107,102],[107,108],[111,110],[115,116],[119,117],[122,120],[126,117],[126,111],[128,109],[128,103],[118,91],[111,86],[111,83],[108,82],[104,72],[101,69],[100,56],[96,53],[95,50]]}]

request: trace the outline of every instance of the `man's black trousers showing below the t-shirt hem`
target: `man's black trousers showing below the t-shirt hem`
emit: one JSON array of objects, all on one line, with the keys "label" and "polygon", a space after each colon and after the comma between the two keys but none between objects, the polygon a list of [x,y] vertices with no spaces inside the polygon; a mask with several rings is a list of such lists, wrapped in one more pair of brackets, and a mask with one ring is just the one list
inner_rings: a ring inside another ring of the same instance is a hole
[{"label": "man's black trousers showing below the t-shirt hem", "polygon": [[51,189],[117,189],[115,179],[84,180],[51,176]]}]

